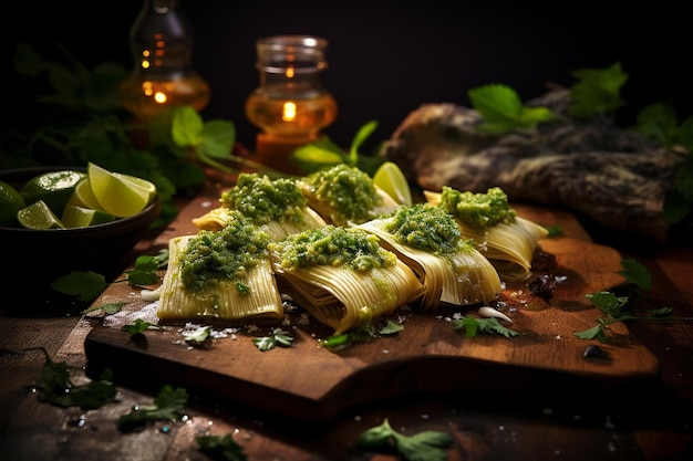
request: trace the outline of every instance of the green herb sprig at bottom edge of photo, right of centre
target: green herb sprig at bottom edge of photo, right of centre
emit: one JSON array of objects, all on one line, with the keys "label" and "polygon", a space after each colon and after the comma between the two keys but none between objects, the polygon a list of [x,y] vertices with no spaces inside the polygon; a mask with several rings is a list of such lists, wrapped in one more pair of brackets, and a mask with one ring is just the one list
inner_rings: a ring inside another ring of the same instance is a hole
[{"label": "green herb sprig at bottom edge of photo, right of centre", "polygon": [[386,418],[382,425],[361,432],[356,440],[356,446],[363,450],[394,451],[408,461],[445,461],[452,444],[449,433],[427,430],[405,436],[392,429]]}]

